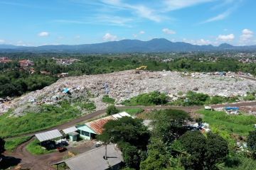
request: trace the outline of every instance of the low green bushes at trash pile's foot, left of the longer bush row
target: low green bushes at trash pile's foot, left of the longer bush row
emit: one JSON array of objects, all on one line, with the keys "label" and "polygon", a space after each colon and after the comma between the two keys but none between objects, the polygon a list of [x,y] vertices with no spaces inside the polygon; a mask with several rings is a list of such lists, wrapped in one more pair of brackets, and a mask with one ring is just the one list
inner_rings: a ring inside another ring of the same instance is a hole
[{"label": "low green bushes at trash pile's foot, left of the longer bush row", "polygon": [[149,94],[140,94],[139,96],[130,98],[122,102],[125,106],[155,106],[163,105],[168,102],[168,96],[159,91],[153,91]]}]

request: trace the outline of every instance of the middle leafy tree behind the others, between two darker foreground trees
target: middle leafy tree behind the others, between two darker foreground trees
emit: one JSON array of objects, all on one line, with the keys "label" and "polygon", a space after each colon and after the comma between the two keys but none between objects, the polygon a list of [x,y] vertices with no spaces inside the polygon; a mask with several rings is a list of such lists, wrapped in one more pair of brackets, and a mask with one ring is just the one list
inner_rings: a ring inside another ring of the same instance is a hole
[{"label": "middle leafy tree behind the others, between two darker foreground trees", "polygon": [[185,111],[173,109],[156,111],[152,122],[154,126],[153,134],[160,137],[163,142],[171,143],[186,132],[184,121],[189,118]]}]

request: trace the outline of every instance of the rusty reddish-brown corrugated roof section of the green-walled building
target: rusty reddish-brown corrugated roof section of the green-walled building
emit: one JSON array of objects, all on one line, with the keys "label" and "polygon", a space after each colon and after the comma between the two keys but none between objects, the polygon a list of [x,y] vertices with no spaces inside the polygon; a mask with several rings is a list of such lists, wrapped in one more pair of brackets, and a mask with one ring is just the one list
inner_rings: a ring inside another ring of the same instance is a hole
[{"label": "rusty reddish-brown corrugated roof section of the green-walled building", "polygon": [[85,123],[88,128],[93,130],[97,134],[102,134],[103,132],[103,126],[110,120],[117,120],[117,118],[114,118],[112,115],[109,115],[105,118],[100,118],[98,120],[93,120],[92,122]]}]

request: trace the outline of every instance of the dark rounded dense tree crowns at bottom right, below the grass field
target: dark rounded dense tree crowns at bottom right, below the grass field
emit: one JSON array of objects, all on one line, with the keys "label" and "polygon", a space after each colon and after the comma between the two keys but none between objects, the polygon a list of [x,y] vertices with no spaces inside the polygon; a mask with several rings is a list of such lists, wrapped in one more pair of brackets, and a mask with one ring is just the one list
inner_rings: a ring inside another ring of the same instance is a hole
[{"label": "dark rounded dense tree crowns at bottom right, below the grass field", "polygon": [[185,169],[215,169],[228,155],[228,142],[212,132],[205,137],[200,131],[188,131],[180,140],[187,152],[181,160]]}]

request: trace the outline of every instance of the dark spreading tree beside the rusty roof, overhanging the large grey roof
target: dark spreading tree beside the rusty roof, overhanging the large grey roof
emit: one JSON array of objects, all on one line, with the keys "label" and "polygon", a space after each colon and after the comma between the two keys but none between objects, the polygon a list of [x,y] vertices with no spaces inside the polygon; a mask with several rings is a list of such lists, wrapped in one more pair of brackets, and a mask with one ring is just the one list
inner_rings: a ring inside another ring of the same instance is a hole
[{"label": "dark spreading tree beside the rusty roof, overhanging the large grey roof", "polygon": [[104,129],[102,135],[97,137],[105,142],[117,143],[126,166],[139,169],[149,141],[149,131],[142,125],[142,120],[130,117],[110,120],[104,125]]}]

